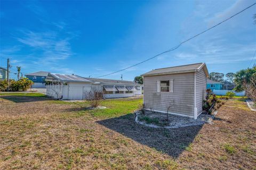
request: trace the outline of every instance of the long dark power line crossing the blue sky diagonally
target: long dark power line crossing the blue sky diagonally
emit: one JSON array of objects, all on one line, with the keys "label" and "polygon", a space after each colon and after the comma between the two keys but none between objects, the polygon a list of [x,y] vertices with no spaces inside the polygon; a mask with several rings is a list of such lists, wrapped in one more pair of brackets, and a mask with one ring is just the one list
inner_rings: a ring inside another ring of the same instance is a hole
[{"label": "long dark power line crossing the blue sky diagonally", "polygon": [[124,68],[124,69],[121,69],[121,70],[118,70],[118,71],[115,71],[115,72],[111,72],[111,73],[106,74],[106,75],[103,75],[103,76],[98,76],[98,77],[96,77],[96,78],[105,77],[105,76],[112,75],[112,74],[115,74],[115,73],[120,72],[120,71],[127,70],[127,69],[129,69],[129,68],[131,68],[131,67],[138,66],[139,64],[141,64],[141,63],[143,63],[143,62],[146,62],[146,61],[148,61],[148,60],[154,59],[154,58],[156,58],[156,57],[159,56],[159,55],[162,55],[162,54],[167,53],[167,52],[170,52],[170,51],[174,51],[174,50],[176,50],[177,48],[179,48],[182,44],[184,44],[184,43],[190,41],[191,39],[193,39],[193,38],[195,38],[195,37],[197,37],[197,36],[199,36],[199,35],[201,35],[201,34],[204,34],[206,31],[209,31],[209,30],[211,30],[211,29],[213,29],[213,28],[215,28],[215,27],[221,25],[221,23],[230,20],[231,18],[233,18],[233,17],[235,17],[236,15],[238,15],[238,14],[244,12],[245,10],[249,9],[250,7],[252,7],[252,6],[255,5],[255,4],[256,4],[256,3],[254,3],[254,4],[252,4],[252,5],[248,6],[248,7],[246,7],[244,10],[242,10],[242,11],[240,11],[240,12],[238,12],[238,13],[232,15],[231,17],[229,17],[229,18],[226,19],[226,20],[221,21],[221,22],[218,23],[217,25],[214,25],[214,26],[212,26],[211,28],[202,31],[202,32],[199,33],[199,34],[197,34],[197,35],[195,35],[195,36],[193,36],[193,37],[188,38],[186,41],[181,42],[179,45],[174,46],[174,47],[171,48],[170,50],[167,50],[167,51],[164,51],[164,52],[159,53],[159,54],[157,54],[157,55],[154,55],[154,56],[152,56],[151,58],[149,58],[149,59],[147,59],[147,60],[144,60],[144,61],[141,61],[141,62],[139,62],[139,63],[137,63],[137,64],[134,64],[134,65],[132,65],[132,66],[130,66],[130,67],[126,67],[126,68]]}]

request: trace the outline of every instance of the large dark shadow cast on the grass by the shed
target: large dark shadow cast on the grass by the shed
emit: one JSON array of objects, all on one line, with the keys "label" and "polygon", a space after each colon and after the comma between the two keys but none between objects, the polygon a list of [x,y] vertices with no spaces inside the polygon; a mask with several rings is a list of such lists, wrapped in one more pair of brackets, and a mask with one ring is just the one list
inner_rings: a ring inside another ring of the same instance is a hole
[{"label": "large dark shadow cast on the grass by the shed", "polygon": [[179,157],[184,150],[191,149],[189,144],[202,128],[202,125],[173,129],[151,128],[135,123],[134,118],[134,114],[129,114],[97,123],[173,158]]}]

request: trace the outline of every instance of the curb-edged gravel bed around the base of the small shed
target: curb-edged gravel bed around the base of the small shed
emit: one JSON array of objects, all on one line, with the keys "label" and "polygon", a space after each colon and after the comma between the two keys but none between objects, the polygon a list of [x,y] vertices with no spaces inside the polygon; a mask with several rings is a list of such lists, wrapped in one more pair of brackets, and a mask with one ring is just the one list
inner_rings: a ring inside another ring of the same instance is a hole
[{"label": "curb-edged gravel bed around the base of the small shed", "polygon": [[197,119],[168,115],[168,121],[166,121],[166,114],[161,112],[146,111],[145,115],[138,114],[138,120],[140,122],[156,125],[156,126],[186,126],[186,125],[201,125],[204,123],[210,123],[212,121],[212,115],[201,114]]}]

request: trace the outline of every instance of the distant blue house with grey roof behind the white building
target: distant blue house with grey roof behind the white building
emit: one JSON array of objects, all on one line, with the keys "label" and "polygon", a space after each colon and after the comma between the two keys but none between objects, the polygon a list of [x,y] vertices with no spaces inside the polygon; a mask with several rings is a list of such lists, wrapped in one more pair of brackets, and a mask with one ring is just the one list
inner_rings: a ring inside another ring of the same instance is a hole
[{"label": "distant blue house with grey roof behind the white building", "polygon": [[34,85],[32,85],[32,88],[46,88],[45,87],[45,78],[49,72],[47,71],[38,71],[33,72],[30,74],[25,75],[28,79],[30,79],[32,82],[34,82]]}]

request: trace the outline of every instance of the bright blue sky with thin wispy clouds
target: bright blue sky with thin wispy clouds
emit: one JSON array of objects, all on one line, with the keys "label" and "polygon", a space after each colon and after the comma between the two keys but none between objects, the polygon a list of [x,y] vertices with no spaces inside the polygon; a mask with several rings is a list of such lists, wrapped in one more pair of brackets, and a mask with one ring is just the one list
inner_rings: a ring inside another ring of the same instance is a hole
[{"label": "bright blue sky with thin wispy clouds", "polygon": [[[0,66],[97,77],[131,66],[255,1],[0,1]],[[151,69],[205,62],[209,72],[249,67],[256,5],[139,66],[105,78],[133,80]],[[16,77],[14,74],[11,75]]]}]

